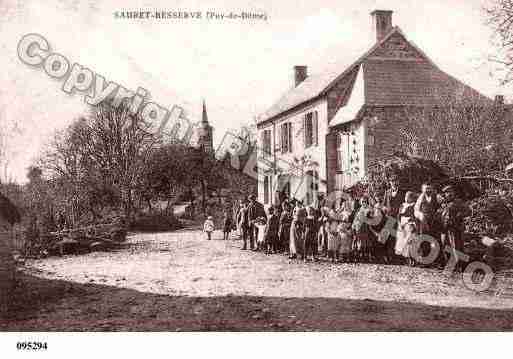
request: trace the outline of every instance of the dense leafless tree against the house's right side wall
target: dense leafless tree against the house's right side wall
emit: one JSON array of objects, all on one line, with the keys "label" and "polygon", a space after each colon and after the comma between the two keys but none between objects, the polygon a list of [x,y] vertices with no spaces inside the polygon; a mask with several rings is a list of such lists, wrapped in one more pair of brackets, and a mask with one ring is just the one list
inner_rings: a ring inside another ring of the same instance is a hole
[{"label": "dense leafless tree against the house's right side wall", "polygon": [[502,106],[406,108],[404,118],[398,150],[434,160],[453,175],[502,170],[511,159],[513,131]]}]

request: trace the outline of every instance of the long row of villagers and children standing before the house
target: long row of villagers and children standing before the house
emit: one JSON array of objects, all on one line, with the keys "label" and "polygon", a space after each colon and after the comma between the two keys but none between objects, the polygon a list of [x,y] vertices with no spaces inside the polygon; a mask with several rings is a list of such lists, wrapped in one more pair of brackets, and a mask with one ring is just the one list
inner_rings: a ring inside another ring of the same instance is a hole
[{"label": "long row of villagers and children standing before the house", "polygon": [[[429,241],[415,246],[419,235],[428,235],[442,249],[433,262],[444,264],[450,255],[443,250],[446,246],[455,253],[463,251],[464,218],[468,215],[470,209],[453,186],[436,193],[433,185],[425,183],[418,195],[401,190],[399,182],[391,180],[381,197],[347,195],[332,204],[319,198],[310,206],[286,198],[267,211],[250,195],[240,201],[235,216],[225,213],[223,232],[228,239],[236,228],[243,250],[286,253],[291,259],[316,261],[323,256],[332,262],[410,265],[419,254],[429,251],[425,248]],[[214,225],[207,222],[204,228],[209,233]]]}]

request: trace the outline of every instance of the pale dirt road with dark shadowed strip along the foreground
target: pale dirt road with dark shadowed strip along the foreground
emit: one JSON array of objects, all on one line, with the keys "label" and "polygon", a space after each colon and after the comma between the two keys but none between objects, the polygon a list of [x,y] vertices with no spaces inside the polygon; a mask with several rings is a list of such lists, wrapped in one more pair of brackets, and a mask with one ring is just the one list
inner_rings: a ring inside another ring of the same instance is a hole
[{"label": "pale dirt road with dark shadowed strip along the foreground", "polygon": [[[115,252],[27,263],[2,330],[511,330],[501,295],[460,275],[290,262],[197,230],[131,236]],[[510,285],[511,284],[511,285]]]}]

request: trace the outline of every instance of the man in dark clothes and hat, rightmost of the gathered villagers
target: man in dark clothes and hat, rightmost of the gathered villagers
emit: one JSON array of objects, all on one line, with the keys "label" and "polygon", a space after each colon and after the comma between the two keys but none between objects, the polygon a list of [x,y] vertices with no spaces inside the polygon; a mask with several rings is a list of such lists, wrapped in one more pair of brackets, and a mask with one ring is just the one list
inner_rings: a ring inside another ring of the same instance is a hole
[{"label": "man in dark clothes and hat, rightmost of the gathered villagers", "polygon": [[451,248],[454,258],[458,258],[457,252],[463,252],[463,220],[471,215],[471,210],[457,197],[454,186],[445,186],[442,194],[444,197],[441,209],[442,243]]}]

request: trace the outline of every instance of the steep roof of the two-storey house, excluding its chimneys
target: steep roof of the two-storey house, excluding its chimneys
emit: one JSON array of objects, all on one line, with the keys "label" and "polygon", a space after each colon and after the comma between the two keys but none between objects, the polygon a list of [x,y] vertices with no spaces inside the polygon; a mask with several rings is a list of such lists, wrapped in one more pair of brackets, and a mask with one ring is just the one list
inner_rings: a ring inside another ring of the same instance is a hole
[{"label": "steep roof of the two-storey house, excluding its chimneys", "polygon": [[323,97],[339,80],[362,64],[366,104],[424,106],[462,99],[492,102],[441,71],[421,49],[406,39],[399,27],[394,27],[354,63],[309,76],[287,91],[263,114],[259,123]]}]

